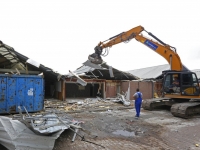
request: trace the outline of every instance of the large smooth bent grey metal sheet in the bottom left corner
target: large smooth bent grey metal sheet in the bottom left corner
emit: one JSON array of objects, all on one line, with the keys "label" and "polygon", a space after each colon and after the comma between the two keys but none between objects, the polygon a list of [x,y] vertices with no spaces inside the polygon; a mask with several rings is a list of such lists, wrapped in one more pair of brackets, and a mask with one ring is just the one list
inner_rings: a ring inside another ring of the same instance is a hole
[{"label": "large smooth bent grey metal sheet in the bottom left corner", "polygon": [[52,150],[64,130],[50,136],[36,135],[18,120],[0,117],[0,143],[9,150]]}]

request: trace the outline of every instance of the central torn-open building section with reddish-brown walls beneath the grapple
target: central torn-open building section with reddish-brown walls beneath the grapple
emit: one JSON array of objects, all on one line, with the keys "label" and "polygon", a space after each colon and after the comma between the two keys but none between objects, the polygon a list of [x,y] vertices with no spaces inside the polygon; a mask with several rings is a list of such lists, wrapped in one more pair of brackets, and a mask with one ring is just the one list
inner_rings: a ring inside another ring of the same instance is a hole
[{"label": "central torn-open building section with reddish-brown walls beneath the grapple", "polygon": [[154,87],[157,85],[151,80],[141,81],[133,74],[119,71],[103,63],[91,64],[86,61],[84,65],[74,71],[75,74],[86,82],[86,86],[77,84],[77,78],[71,73],[66,77],[66,98],[96,97],[114,98],[118,93],[125,94],[128,90],[127,99],[132,99],[136,88],[142,89],[144,99],[154,97]]}]

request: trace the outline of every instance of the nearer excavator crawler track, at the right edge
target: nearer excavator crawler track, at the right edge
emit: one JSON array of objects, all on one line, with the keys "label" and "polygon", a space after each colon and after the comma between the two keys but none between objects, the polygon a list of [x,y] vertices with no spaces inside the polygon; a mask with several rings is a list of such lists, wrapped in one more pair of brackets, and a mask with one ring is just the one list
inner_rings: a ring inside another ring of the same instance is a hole
[{"label": "nearer excavator crawler track, at the right edge", "polygon": [[190,118],[200,114],[200,102],[176,103],[171,107],[171,113],[175,117]]}]

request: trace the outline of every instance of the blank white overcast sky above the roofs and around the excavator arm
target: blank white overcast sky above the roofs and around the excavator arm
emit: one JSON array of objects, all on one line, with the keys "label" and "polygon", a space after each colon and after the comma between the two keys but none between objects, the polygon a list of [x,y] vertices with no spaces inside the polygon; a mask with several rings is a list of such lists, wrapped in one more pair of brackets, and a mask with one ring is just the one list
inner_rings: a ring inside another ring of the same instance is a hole
[{"label": "blank white overcast sky above the roofs and around the excavator arm", "polygon": [[[100,42],[138,25],[176,47],[182,63],[200,69],[198,0],[1,0],[0,40],[62,74],[74,71]],[[135,39],[103,58],[134,70],[167,64]]]}]

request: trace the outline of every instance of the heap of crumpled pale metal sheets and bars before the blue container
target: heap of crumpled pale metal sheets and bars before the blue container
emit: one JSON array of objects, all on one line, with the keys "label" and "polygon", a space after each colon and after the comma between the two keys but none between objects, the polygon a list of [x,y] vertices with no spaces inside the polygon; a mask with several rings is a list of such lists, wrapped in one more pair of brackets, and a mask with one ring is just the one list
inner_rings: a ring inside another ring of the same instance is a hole
[{"label": "heap of crumpled pale metal sheets and bars before the blue container", "polygon": [[58,116],[54,112],[26,115],[18,107],[20,115],[13,118],[0,116],[0,143],[8,149],[16,150],[51,150],[60,134],[70,129],[75,136],[82,122],[70,119],[66,114]]}]

